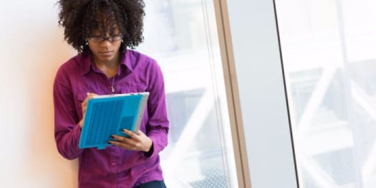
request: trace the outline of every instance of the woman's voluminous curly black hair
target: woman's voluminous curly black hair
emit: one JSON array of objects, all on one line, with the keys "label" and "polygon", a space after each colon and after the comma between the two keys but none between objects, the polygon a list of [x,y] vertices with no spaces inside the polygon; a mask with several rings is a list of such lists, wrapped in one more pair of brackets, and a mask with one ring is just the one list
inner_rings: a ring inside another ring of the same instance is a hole
[{"label": "woman's voluminous curly black hair", "polygon": [[98,30],[103,36],[118,29],[123,34],[120,52],[134,49],[143,42],[142,0],[61,0],[58,25],[64,28],[64,39],[81,54],[88,52],[86,38]]}]

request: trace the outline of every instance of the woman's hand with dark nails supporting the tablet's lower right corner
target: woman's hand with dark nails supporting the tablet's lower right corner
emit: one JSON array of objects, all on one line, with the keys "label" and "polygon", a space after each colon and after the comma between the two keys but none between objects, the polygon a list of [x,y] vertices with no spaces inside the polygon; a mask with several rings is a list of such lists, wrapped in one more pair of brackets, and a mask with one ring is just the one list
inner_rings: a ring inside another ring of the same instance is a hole
[{"label": "woman's hand with dark nails supporting the tablet's lower right corner", "polygon": [[113,146],[118,146],[126,150],[143,151],[148,152],[152,147],[152,140],[146,136],[141,130],[138,132],[132,132],[130,130],[123,130],[128,137],[118,136],[113,134],[114,140],[109,141]]}]

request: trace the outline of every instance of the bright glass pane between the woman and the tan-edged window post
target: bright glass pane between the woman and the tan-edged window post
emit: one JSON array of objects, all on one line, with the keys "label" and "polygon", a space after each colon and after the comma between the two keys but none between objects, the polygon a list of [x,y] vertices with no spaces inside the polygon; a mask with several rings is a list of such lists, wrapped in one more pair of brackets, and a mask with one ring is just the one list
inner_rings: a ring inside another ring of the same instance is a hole
[{"label": "bright glass pane between the woman and the tan-edged window post", "polygon": [[212,1],[146,0],[145,42],[166,82],[168,187],[237,187]]}]

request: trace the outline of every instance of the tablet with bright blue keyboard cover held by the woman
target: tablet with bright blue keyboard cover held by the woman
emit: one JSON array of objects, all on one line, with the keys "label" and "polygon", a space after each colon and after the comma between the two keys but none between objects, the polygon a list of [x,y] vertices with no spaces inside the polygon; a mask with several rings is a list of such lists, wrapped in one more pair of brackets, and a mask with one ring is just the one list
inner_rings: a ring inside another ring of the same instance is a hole
[{"label": "tablet with bright blue keyboard cover held by the woman", "polygon": [[139,130],[149,93],[97,95],[88,100],[79,148],[105,149],[112,134]]}]

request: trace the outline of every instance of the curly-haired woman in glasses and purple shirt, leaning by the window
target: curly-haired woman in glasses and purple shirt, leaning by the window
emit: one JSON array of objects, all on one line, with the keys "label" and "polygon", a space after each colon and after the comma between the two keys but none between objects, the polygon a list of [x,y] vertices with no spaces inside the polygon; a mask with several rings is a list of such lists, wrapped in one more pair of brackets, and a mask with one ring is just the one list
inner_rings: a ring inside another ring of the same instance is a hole
[{"label": "curly-haired woman in glasses and purple shirt, leaning by the window", "polygon": [[[63,157],[78,157],[79,187],[165,187],[159,152],[169,120],[162,71],[132,50],[143,41],[143,1],[62,0],[58,7],[65,40],[78,54],[54,80],[55,139]],[[88,97],[144,91],[150,95],[139,132],[113,135],[105,150],[79,149]]]}]

